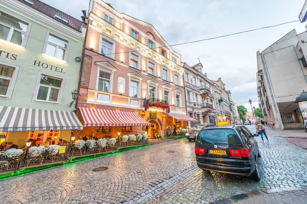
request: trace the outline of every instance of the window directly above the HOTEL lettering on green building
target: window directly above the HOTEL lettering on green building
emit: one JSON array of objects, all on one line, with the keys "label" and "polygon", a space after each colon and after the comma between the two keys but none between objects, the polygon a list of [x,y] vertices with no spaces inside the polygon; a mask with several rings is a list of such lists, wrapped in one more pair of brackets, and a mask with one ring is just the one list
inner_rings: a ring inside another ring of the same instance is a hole
[{"label": "window directly above the HOTEL lettering on green building", "polygon": [[59,60],[65,59],[68,41],[49,34],[45,54]]}]

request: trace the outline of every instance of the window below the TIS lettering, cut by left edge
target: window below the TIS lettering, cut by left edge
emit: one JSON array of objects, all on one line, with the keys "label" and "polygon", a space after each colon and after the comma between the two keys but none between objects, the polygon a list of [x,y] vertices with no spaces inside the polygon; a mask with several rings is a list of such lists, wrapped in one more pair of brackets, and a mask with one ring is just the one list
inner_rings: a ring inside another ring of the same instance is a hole
[{"label": "window below the TIS lettering, cut by left edge", "polygon": [[0,65],[0,95],[6,96],[12,84],[14,68]]}]

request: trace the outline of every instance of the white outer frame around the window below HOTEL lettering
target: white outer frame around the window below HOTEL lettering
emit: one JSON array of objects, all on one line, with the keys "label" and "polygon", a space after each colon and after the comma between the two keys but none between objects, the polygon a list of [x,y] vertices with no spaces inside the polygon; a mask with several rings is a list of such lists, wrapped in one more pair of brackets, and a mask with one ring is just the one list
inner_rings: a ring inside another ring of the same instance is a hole
[{"label": "white outer frame around the window below HOTEL lettering", "polygon": [[[57,99],[56,102],[37,99],[38,90],[39,90],[39,86],[40,86],[41,75],[45,75],[46,77],[62,80],[61,87],[59,89],[58,99]],[[65,78],[64,77],[60,77],[58,75],[54,75],[54,74],[50,74],[50,73],[39,71],[38,75],[37,75],[37,79],[36,79],[36,84],[35,84],[35,88],[34,88],[34,94],[33,94],[32,102],[34,102],[34,103],[43,103],[43,104],[61,105],[62,97],[63,97],[63,92],[64,92],[64,87],[65,87]]]}]

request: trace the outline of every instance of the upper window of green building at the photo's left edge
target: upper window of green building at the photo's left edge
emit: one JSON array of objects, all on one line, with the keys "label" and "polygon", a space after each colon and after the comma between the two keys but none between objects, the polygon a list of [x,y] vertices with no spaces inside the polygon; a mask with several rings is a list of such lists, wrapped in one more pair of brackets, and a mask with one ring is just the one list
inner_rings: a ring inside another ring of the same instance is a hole
[{"label": "upper window of green building at the photo's left edge", "polygon": [[27,23],[21,22],[4,13],[0,13],[0,39],[21,45],[27,28]]}]

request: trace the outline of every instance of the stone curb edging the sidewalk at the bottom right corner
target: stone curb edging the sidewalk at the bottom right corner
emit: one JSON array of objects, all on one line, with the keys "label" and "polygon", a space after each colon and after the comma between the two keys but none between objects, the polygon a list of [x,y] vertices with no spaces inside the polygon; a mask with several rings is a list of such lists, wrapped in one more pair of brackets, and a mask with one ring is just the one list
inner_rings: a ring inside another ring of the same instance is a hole
[{"label": "stone curb edging the sidewalk at the bottom right corner", "polygon": [[231,204],[233,202],[248,199],[250,197],[256,197],[256,196],[265,195],[269,193],[278,193],[278,192],[286,192],[286,191],[303,191],[305,189],[307,188],[297,188],[297,187],[269,188],[269,189],[265,189],[261,191],[251,191],[248,193],[233,195],[233,196],[230,196],[229,198],[215,200],[214,202],[210,202],[209,204]]}]

